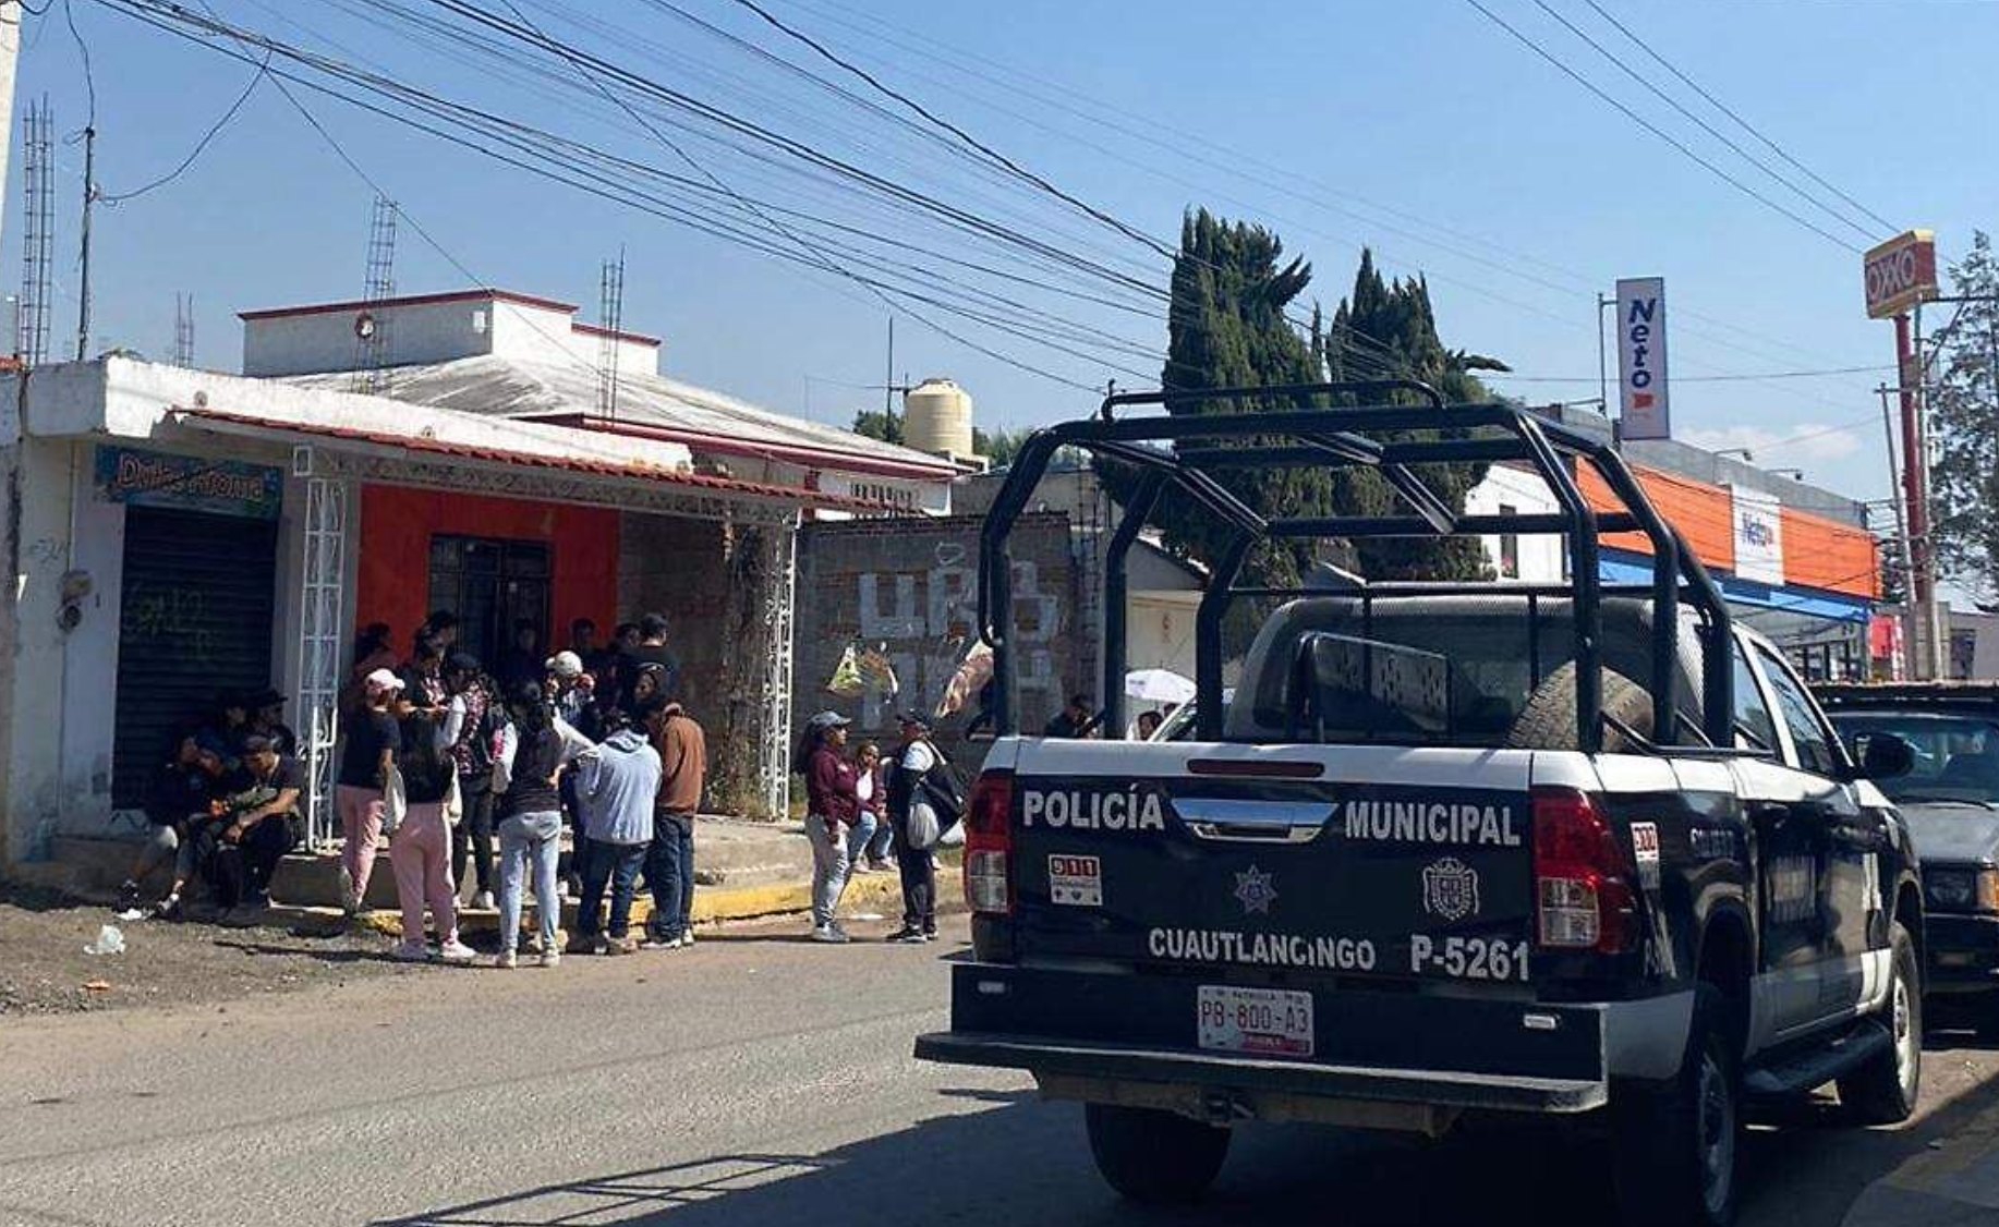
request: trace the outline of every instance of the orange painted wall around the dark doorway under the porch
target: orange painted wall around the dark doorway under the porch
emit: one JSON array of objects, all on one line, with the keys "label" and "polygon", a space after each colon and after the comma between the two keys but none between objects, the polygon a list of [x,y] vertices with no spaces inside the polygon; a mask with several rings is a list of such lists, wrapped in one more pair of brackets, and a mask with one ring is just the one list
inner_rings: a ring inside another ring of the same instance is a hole
[{"label": "orange painted wall around the dark doorway under the porch", "polygon": [[618,621],[618,512],[446,490],[362,486],[356,623],[386,621],[404,649],[430,612],[430,538],[548,542],[554,582],[550,635],[568,641],[570,621]]}]

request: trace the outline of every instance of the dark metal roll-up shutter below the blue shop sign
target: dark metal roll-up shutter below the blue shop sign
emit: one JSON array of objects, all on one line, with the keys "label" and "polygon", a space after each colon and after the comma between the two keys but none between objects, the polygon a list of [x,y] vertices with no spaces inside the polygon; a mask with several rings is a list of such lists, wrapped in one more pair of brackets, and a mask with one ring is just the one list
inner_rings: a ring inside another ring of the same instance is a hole
[{"label": "dark metal roll-up shutter below the blue shop sign", "polygon": [[168,741],[216,693],[272,681],[278,526],[126,508],[112,803],[146,803]]}]

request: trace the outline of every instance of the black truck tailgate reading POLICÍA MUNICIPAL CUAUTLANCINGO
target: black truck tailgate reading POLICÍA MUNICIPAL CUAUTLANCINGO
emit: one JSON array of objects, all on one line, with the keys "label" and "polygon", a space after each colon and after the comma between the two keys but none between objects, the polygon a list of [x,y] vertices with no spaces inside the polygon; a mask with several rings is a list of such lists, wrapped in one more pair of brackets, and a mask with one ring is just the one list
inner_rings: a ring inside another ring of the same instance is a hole
[{"label": "black truck tailgate reading POLIC\u00cdA MUNICIPAL CUAUTLANCINGO", "polygon": [[1227,969],[1223,983],[1249,985],[1327,975],[1521,985],[1533,935],[1531,757],[1199,743],[1103,755],[1025,741],[1013,783],[1015,949]]}]

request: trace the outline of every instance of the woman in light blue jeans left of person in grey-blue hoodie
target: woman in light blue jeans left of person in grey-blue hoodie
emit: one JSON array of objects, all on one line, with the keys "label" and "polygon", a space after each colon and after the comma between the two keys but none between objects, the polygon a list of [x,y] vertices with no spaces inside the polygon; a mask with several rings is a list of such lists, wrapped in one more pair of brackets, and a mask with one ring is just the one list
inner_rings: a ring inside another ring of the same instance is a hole
[{"label": "woman in light blue jeans left of person in grey-blue hoodie", "polygon": [[590,749],[576,729],[556,715],[538,681],[508,693],[512,721],[500,733],[494,761],[494,817],[500,823],[500,955],[496,967],[516,965],[524,877],[534,873],[534,915],[542,931],[542,965],[562,961],[556,923],[562,899],[556,869],[562,859],[562,771]]}]

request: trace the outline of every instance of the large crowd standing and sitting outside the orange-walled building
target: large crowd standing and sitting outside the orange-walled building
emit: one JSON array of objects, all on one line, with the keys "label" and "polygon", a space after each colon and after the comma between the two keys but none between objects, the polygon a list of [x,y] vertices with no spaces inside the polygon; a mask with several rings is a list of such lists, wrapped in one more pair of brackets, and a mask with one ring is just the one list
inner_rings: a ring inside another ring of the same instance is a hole
[{"label": "large crowd standing and sitting outside the orange-walled building", "polygon": [[[532,627],[530,627],[532,629]],[[496,679],[458,649],[458,619],[432,614],[398,657],[388,625],[362,629],[340,699],[334,805],[344,839],[342,907],[368,907],[388,837],[402,909],[402,959],[470,961],[458,935],[468,869],[474,907],[498,907],[498,965],[518,963],[526,889],[534,947],[562,959],[562,893],[578,895],[570,953],[630,953],[694,941],[694,815],[708,775],[702,725],[676,701],[680,665],[668,623],[648,614],[596,643],[578,619],[570,647],[524,667],[516,635]],[[226,695],[216,719],[180,739],[148,807],[154,837],[126,883],[126,903],[168,855],[174,881],[156,907],[182,909],[200,873],[228,923],[254,923],[270,875],[300,837],[306,787],[282,695]],[[562,829],[574,829],[570,881],[558,881]],[[498,849],[494,847],[498,839]],[[652,893],[644,941],[630,931],[640,875]],[[608,895],[608,917],[606,917]],[[430,913],[434,945],[424,941]]]}]

